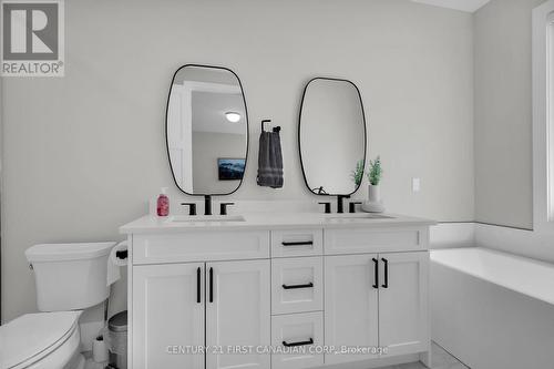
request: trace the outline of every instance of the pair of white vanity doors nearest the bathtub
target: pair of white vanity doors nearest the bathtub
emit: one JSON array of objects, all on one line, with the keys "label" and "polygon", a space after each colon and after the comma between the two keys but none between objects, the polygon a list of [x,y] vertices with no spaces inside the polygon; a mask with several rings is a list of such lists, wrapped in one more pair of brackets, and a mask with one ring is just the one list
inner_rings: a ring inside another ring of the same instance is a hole
[{"label": "pair of white vanity doors nearest the bathtub", "polygon": [[[384,253],[325,258],[325,344],[386,348],[387,356],[429,348],[429,253]],[[327,355],[326,363],[375,353]]]}]

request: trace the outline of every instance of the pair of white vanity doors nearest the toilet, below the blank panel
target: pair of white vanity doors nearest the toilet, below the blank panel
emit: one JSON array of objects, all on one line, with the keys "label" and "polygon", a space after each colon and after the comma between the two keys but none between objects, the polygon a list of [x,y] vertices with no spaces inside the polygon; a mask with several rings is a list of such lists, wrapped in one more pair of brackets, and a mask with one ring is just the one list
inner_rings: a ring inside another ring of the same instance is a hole
[{"label": "pair of white vanity doors nearest the toilet, below the blank panel", "polygon": [[226,350],[269,345],[269,260],[137,266],[133,286],[133,368],[269,368]]}]

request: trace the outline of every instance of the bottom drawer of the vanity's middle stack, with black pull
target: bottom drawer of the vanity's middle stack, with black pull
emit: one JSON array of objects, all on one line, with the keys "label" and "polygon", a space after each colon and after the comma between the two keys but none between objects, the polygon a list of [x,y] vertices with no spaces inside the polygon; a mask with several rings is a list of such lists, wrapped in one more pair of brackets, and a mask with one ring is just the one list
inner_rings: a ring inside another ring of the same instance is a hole
[{"label": "bottom drawer of the vanity's middle stack, with black pull", "polygon": [[271,317],[271,346],[283,352],[271,355],[273,369],[320,367],[324,365],[324,355],[316,353],[315,348],[322,345],[322,312]]}]

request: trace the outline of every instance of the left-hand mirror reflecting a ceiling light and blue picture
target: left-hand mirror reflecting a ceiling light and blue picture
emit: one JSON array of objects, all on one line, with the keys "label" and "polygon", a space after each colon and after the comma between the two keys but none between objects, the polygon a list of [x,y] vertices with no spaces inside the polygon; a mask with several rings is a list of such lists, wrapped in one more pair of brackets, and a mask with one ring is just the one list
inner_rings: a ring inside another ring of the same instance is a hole
[{"label": "left-hand mirror reflecting a ceiling light and blue picture", "polygon": [[227,195],[243,181],[248,117],[237,75],[185,65],[175,73],[166,115],[167,151],[176,185],[189,195]]}]

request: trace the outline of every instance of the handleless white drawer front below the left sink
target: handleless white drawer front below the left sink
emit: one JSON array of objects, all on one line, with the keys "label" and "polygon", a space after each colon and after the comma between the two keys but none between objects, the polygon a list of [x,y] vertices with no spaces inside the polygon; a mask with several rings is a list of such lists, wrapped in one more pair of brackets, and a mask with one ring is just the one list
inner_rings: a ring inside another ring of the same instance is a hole
[{"label": "handleless white drawer front below the left sink", "polygon": [[269,232],[133,235],[133,264],[269,258]]}]

